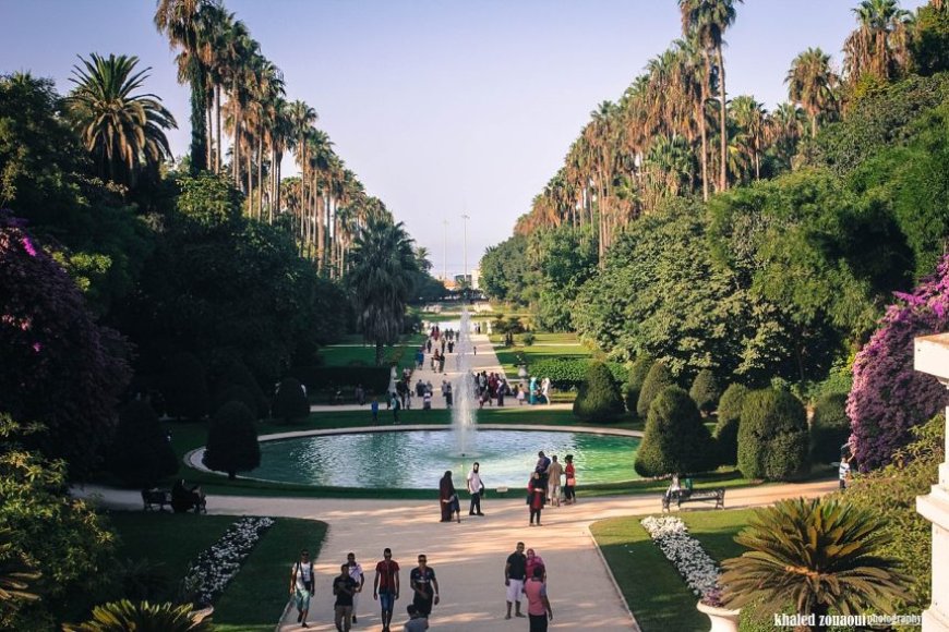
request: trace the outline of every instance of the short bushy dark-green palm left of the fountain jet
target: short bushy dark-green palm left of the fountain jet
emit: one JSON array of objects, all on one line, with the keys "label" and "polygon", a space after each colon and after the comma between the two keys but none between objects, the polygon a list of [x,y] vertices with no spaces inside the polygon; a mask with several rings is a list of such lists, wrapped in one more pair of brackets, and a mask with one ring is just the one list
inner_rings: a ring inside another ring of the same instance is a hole
[{"label": "short bushy dark-green palm left of the fountain jet", "polygon": [[371,221],[356,235],[346,281],[363,339],[375,343],[376,365],[383,345],[401,335],[417,272],[412,240],[401,222]]}]

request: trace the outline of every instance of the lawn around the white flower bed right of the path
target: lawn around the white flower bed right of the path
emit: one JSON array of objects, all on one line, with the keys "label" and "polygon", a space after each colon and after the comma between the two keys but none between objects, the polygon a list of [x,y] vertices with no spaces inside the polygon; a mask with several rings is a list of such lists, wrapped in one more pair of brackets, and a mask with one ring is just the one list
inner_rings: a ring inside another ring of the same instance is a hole
[{"label": "lawn around the white flower bed right of the path", "polygon": [[[706,551],[716,560],[744,550],[732,538],[747,524],[750,509],[683,512]],[[612,518],[590,525],[603,557],[616,578],[629,609],[644,632],[708,630],[708,619],[696,610],[698,597],[686,586],[649,534],[639,524],[642,516]]]}]

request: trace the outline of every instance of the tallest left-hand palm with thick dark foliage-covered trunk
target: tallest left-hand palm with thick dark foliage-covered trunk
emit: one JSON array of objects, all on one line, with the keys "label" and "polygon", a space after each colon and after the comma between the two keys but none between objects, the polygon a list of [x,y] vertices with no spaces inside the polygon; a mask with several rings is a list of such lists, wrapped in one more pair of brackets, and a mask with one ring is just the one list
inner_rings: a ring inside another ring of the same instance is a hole
[{"label": "tallest left-hand palm with thick dark foliage-covered trunk", "polygon": [[180,48],[178,81],[191,84],[191,170],[207,168],[207,132],[205,105],[207,66],[201,60],[199,12],[206,0],[158,0],[155,27],[168,38],[172,48]]}]

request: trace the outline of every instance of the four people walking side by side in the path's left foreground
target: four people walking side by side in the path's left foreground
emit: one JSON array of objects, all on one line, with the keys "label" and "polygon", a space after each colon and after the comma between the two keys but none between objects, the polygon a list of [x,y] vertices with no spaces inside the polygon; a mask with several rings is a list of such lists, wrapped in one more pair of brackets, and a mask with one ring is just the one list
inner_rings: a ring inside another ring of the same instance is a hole
[{"label": "four people walking side by side in the path's left foreground", "polygon": [[[336,630],[348,632],[358,622],[357,607],[359,595],[365,585],[362,566],[356,561],[356,554],[346,556],[339,567],[339,574],[333,578],[334,622]],[[412,603],[406,608],[408,621],[403,632],[421,632],[429,629],[432,606],[439,604],[440,588],[435,571],[428,566],[425,555],[419,556],[419,566],[409,573],[409,590]],[[309,628],[310,600],[315,593],[316,573],[310,551],[300,551],[300,559],[293,563],[290,573],[290,596],[297,606],[297,622]],[[372,583],[372,598],[380,604],[383,632],[391,632],[395,601],[399,598],[399,564],[392,559],[392,549],[383,550],[383,559],[375,564],[375,579]]]}]

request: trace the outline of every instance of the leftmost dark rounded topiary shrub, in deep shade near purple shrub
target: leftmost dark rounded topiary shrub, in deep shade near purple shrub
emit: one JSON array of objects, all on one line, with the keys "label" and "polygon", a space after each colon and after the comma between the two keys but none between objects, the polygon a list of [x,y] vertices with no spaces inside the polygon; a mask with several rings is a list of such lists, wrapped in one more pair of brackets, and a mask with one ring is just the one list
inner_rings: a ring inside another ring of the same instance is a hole
[{"label": "leftmost dark rounded topiary shrub, in deep shade near purple shrub", "polygon": [[147,402],[132,401],[122,409],[108,466],[124,483],[141,489],[178,472],[178,458]]}]

